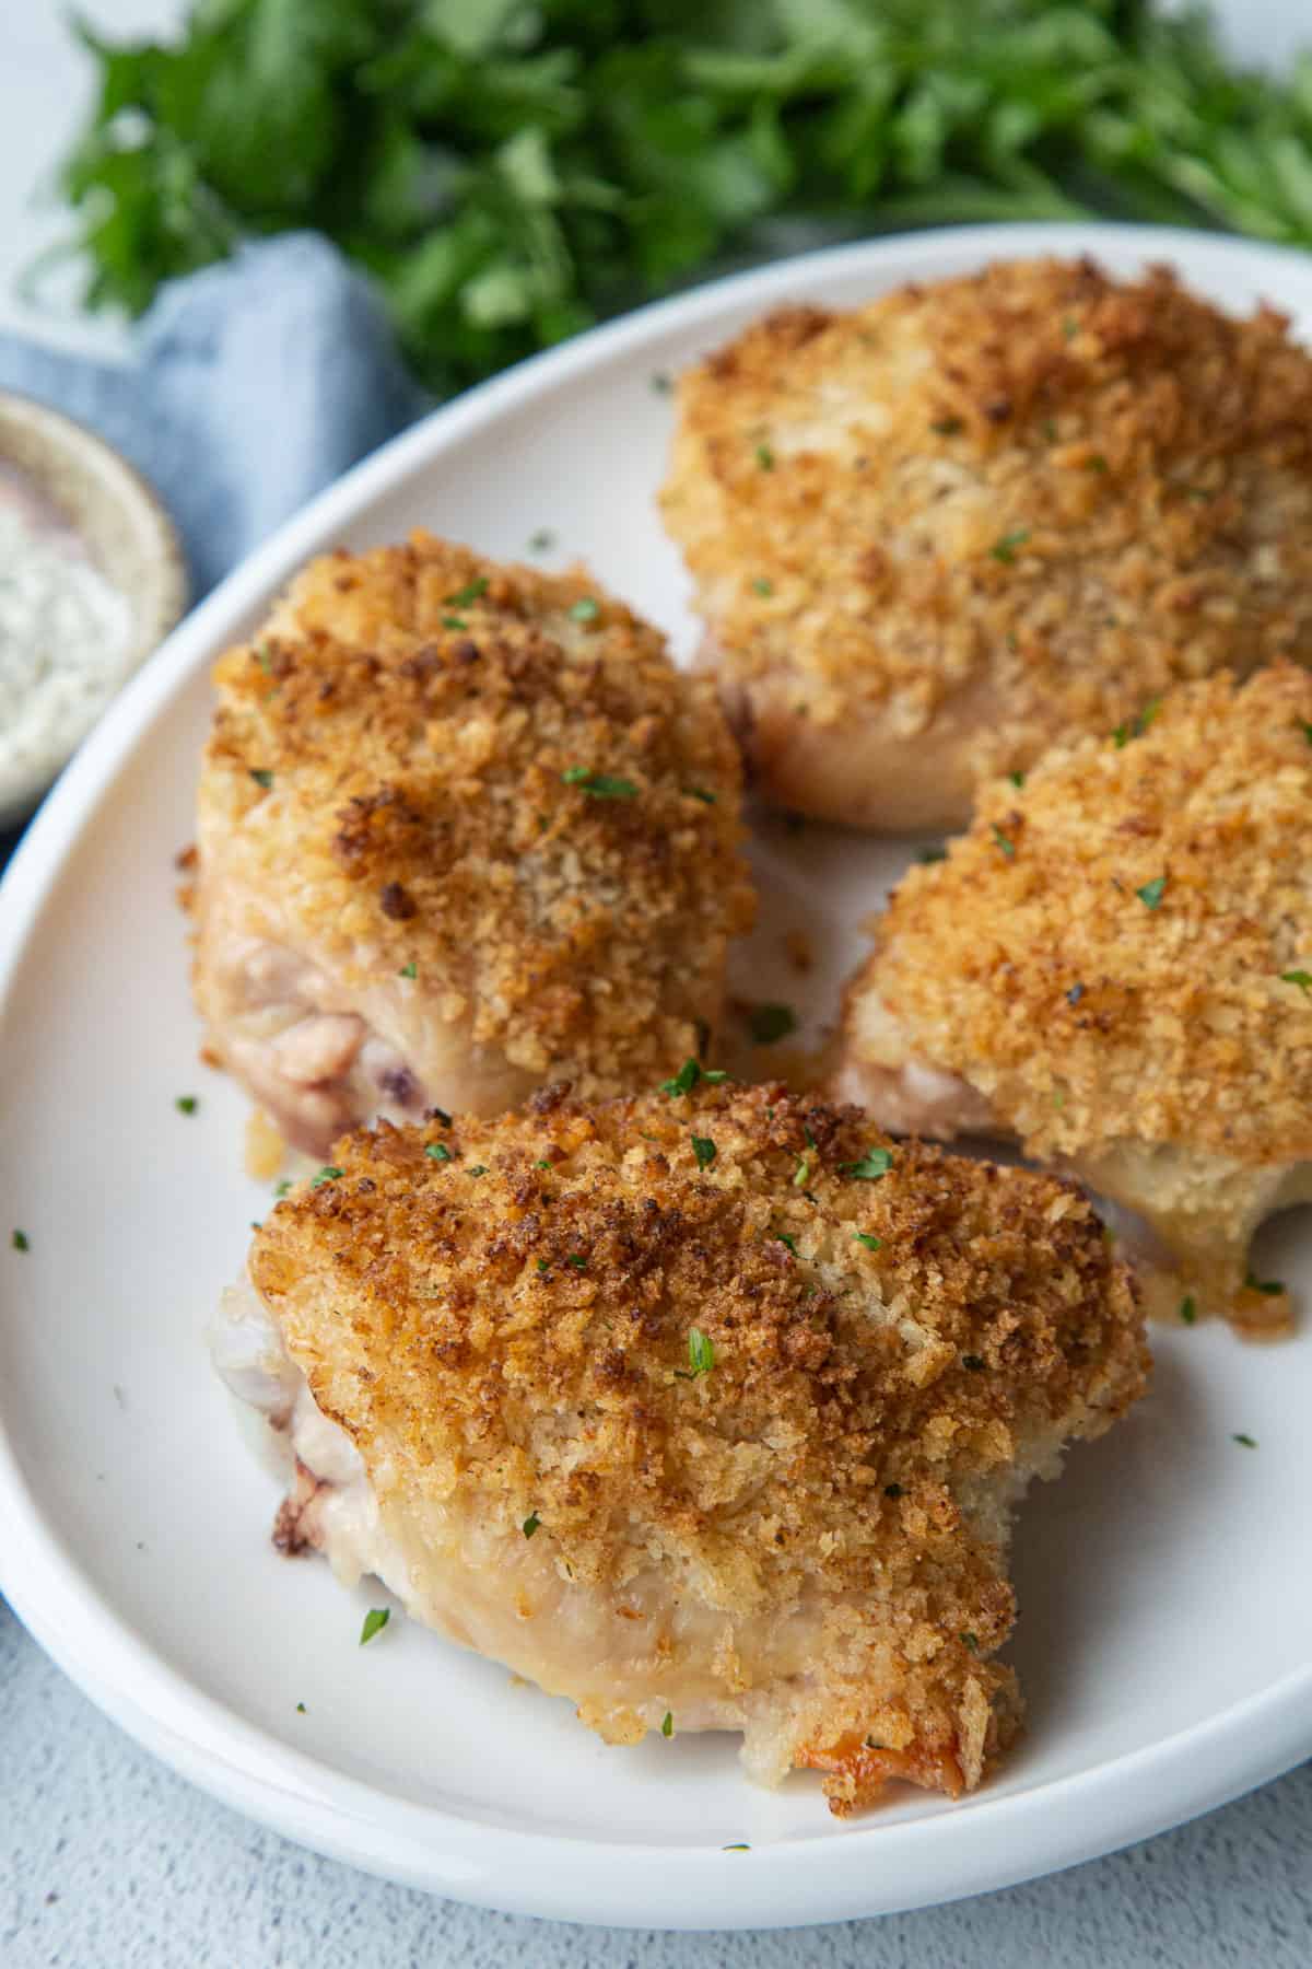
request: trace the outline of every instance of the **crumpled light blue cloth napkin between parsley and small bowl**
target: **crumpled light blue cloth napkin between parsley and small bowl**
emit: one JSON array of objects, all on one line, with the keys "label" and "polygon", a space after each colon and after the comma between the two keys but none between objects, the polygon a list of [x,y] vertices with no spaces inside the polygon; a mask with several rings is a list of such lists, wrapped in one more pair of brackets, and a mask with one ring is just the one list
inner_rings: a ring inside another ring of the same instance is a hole
[{"label": "crumpled light blue cloth napkin between parsley and small bowl", "polygon": [[[370,287],[311,232],[173,282],[128,364],[0,335],[0,388],[89,423],[155,486],[183,536],[193,601],[431,410]],[[0,868],[16,841],[0,833]]]}]

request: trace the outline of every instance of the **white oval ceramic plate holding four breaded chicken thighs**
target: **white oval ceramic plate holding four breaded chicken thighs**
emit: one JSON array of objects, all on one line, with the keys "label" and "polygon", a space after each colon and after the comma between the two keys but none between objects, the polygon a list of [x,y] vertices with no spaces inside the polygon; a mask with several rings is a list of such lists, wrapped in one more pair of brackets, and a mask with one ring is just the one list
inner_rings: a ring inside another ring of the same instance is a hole
[{"label": "white oval ceramic plate holding four breaded chicken thighs", "polygon": [[[816,1782],[753,1790],[726,1737],[608,1750],[567,1703],[403,1620],[358,1646],[380,1589],[279,1559],[271,1481],[210,1374],[203,1325],[268,1185],[246,1103],[197,1065],[173,851],[189,839],[210,658],[309,553],[431,526],[500,555],[553,528],[692,640],[653,510],[661,374],[783,299],[858,301],[997,254],[1174,260],[1231,307],[1312,329],[1312,262],[1194,234],[1039,226],[818,254],[700,289],[488,384],[327,492],[185,622],[39,815],[0,892],[0,1573],[18,1613],[128,1731],[307,1845],[515,1912],[620,1926],[767,1926],[909,1908],[1139,1839],[1312,1750],[1312,1343],[1159,1333],[1155,1392],[1039,1487],[1017,1536],[1013,1658],[1031,1729],[960,1804],[899,1792],[840,1825]],[[769,827],[753,996],[803,996],[779,951],[812,929],[812,1016],[852,923],[907,849]],[[199,1093],[187,1118],[175,1097]],[[10,1248],[22,1227],[30,1252]],[[1263,1268],[1312,1303],[1308,1219]],[[1257,1439],[1257,1449],[1233,1441]],[[297,1711],[305,1703],[305,1713]],[[747,1841],[751,1851],[724,1851]]]}]

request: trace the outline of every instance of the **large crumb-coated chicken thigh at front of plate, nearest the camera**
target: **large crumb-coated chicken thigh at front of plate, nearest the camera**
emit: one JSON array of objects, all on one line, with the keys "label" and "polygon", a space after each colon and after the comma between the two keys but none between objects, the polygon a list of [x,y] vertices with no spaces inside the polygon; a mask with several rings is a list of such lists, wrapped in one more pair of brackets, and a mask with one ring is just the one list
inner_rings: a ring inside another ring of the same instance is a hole
[{"label": "large crumb-coated chicken thigh at front of plate, nearest the camera", "polygon": [[1145,1382],[1072,1183],[777,1085],[543,1089],[334,1158],[218,1339],[299,1459],[285,1546],[608,1743],[742,1731],[838,1813],[980,1782],[1019,1723],[1011,1508]]}]

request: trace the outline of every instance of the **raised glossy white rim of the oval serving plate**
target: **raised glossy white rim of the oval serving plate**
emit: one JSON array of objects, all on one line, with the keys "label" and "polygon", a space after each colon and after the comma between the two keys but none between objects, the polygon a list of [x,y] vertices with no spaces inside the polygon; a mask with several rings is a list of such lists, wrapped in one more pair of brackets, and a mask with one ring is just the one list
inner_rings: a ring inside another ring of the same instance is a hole
[{"label": "raised glossy white rim of the oval serving plate", "polygon": [[[633,356],[667,331],[767,307],[806,284],[869,270],[913,280],[966,254],[1129,252],[1166,258],[1190,280],[1190,252],[1245,276],[1312,258],[1261,240],[1170,226],[1044,222],[950,226],[822,248],[706,282],[635,309],[490,378],[382,445],[248,555],[128,683],[39,809],[0,880],[0,1051],[28,939],[136,746],[236,624],[309,553],[380,496],[521,404],[549,398],[598,360]],[[1312,307],[1312,293],[1310,293]],[[791,1837],[724,1853],[702,1845],[596,1845],[525,1833],[403,1800],[350,1778],[250,1723],[171,1668],[85,1577],[24,1481],[0,1414],[0,1591],[59,1668],[130,1737],[191,1782],[301,1845],[456,1900],[620,1928],[785,1928],[909,1910],[1009,1886],[1145,1839],[1279,1776],[1312,1750],[1312,1664],[1153,1745],[960,1813],[879,1823],[842,1837]],[[745,1782],[745,1780],[744,1780]],[[1127,1798],[1129,1794],[1129,1798]],[[1074,1808],[1074,1810],[1072,1810]],[[816,1810],[820,1810],[816,1802]],[[598,1855],[610,1865],[598,1869]],[[879,1865],[883,1861],[883,1865]],[[679,1908],[671,1878],[679,1869]]]}]

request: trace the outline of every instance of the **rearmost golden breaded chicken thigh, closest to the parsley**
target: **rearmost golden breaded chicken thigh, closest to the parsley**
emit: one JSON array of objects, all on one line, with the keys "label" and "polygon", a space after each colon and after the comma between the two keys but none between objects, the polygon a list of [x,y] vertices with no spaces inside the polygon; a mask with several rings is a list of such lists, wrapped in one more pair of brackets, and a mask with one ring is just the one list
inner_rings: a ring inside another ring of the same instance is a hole
[{"label": "rearmost golden breaded chicken thigh, closest to the parsley", "polygon": [[789,307],[683,378],[663,508],[763,792],[960,827],[1054,738],[1312,648],[1312,358],[1090,260]]}]

